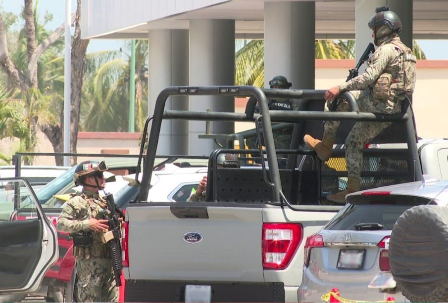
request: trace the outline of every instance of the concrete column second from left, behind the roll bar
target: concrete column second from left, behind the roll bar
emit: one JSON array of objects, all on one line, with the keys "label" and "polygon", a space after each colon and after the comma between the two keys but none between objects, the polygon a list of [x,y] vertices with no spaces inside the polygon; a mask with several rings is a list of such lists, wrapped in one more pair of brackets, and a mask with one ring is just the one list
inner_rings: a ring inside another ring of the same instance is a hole
[{"label": "concrete column second from left, behind the roll bar", "polygon": [[[235,20],[190,20],[190,86],[235,85]],[[190,96],[191,111],[235,111],[235,99],[223,96]],[[191,155],[209,155],[219,148],[211,139],[199,139],[205,122],[189,124]],[[210,122],[210,133],[235,132],[233,122]],[[221,144],[225,147],[225,141]]]}]

